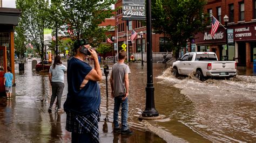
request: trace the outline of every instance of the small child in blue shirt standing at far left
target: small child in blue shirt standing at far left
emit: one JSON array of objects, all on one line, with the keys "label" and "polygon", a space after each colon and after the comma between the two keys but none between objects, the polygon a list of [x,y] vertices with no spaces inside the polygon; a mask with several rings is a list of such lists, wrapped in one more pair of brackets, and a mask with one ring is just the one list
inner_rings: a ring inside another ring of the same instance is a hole
[{"label": "small child in blue shirt standing at far left", "polygon": [[4,86],[6,91],[6,98],[12,99],[12,85],[14,84],[14,75],[11,73],[11,68],[7,67],[7,72],[4,74]]}]

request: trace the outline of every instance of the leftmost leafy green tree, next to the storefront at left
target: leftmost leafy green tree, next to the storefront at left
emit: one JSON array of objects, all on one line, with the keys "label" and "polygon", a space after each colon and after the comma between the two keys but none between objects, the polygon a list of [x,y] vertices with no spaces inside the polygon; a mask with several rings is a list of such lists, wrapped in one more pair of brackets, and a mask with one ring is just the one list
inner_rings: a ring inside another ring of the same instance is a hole
[{"label": "leftmost leafy green tree, next to the storefront at left", "polygon": [[19,27],[24,30],[28,42],[36,48],[43,61],[46,52],[44,52],[44,28],[52,25],[49,18],[49,0],[16,0],[16,7],[22,10]]}]

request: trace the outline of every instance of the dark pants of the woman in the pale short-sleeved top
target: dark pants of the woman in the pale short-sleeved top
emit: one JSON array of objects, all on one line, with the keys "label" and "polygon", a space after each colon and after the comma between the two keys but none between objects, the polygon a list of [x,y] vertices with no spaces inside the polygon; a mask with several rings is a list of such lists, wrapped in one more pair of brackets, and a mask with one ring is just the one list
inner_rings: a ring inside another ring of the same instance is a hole
[{"label": "dark pants of the woman in the pale short-sleeved top", "polygon": [[64,89],[64,83],[62,82],[52,82],[51,83],[51,102],[50,102],[50,107],[52,107],[53,103],[55,102],[55,99],[57,97],[57,106],[60,108],[61,103],[62,103],[62,93]]}]

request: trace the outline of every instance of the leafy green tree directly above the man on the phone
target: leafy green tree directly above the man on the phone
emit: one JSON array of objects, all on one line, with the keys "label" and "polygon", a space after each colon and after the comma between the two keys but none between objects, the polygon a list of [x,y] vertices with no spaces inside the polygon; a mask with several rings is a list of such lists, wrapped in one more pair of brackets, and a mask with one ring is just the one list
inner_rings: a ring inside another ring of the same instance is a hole
[{"label": "leafy green tree directly above the man on the phone", "polygon": [[[65,22],[65,30],[72,30],[73,39],[85,38],[90,41],[92,47],[98,47],[105,38],[105,32],[110,26],[99,27],[106,18],[113,16],[111,4],[114,1],[80,0],[62,1],[59,11],[62,13]],[[69,34],[66,32],[66,34]]]}]

